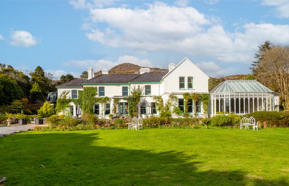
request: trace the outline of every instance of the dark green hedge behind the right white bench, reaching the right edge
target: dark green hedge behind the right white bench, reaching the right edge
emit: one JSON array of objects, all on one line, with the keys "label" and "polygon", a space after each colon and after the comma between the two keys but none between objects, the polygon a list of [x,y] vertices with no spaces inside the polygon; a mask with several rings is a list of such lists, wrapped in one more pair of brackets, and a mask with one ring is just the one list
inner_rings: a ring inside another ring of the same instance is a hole
[{"label": "dark green hedge behind the right white bench, reaching the right edge", "polygon": [[[254,117],[256,124],[258,121],[261,122],[262,126],[265,128],[271,127],[289,127],[289,113],[276,112],[276,111],[258,111],[243,115],[244,117]],[[260,123],[259,122],[259,123]],[[266,124],[264,124],[266,122]]]}]

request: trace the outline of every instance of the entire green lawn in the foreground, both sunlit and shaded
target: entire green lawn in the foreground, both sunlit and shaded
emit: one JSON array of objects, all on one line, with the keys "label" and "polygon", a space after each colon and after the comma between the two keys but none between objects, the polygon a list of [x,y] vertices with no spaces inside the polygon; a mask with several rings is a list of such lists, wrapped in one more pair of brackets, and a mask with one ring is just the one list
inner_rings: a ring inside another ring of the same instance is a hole
[{"label": "entire green lawn in the foreground, both sunlit and shaded", "polygon": [[289,185],[289,129],[29,131],[0,138],[0,176],[4,186]]}]

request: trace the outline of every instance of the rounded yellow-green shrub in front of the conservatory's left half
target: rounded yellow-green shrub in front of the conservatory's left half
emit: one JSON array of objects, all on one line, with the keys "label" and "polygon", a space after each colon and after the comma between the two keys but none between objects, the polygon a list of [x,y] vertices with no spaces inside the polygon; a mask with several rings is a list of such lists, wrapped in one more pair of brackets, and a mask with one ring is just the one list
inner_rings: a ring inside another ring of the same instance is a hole
[{"label": "rounded yellow-green shrub in front of the conservatory's left half", "polygon": [[230,113],[230,114],[218,114],[211,118],[211,126],[216,127],[234,127],[239,126],[241,122],[241,116]]}]

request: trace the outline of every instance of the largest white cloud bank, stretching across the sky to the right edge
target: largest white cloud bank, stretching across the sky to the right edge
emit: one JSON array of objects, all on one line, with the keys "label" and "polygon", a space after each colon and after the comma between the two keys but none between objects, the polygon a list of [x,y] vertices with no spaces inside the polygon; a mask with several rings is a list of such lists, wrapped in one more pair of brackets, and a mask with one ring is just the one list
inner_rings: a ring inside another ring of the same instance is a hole
[{"label": "largest white cloud bank, stretching across the sky to the right edge", "polygon": [[[160,1],[147,6],[134,10],[91,8],[86,36],[106,46],[129,47],[142,54],[169,51],[247,64],[254,60],[257,46],[264,41],[289,43],[289,25],[243,22],[229,32],[221,18],[201,14],[192,7],[169,6]],[[98,28],[98,23],[108,27]]]}]

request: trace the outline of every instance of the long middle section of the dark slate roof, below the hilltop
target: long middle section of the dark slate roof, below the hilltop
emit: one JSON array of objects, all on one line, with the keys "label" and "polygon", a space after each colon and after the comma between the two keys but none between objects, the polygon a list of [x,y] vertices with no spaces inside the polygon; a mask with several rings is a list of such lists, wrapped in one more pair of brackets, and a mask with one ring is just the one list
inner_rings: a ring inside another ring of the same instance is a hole
[{"label": "long middle section of the dark slate roof, below the hilltop", "polygon": [[139,74],[101,74],[97,77],[84,81],[83,83],[129,83],[131,79],[139,76]]}]

